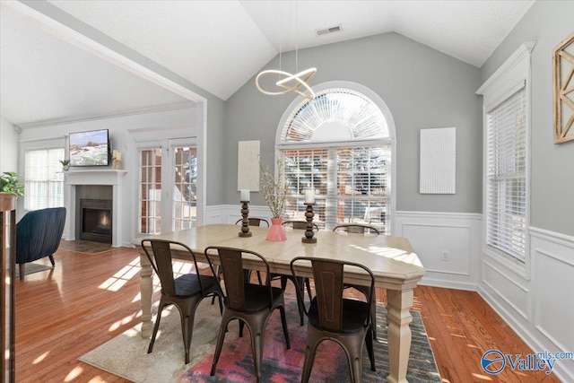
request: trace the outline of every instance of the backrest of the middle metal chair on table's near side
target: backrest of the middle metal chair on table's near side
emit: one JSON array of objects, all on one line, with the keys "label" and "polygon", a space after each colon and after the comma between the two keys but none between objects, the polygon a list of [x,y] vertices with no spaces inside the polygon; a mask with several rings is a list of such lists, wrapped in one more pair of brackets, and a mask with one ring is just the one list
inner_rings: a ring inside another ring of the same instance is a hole
[{"label": "backrest of the middle metal chair on table's near side", "polygon": [[[260,260],[265,264],[266,275],[269,275],[269,264],[265,260],[265,257],[255,251],[249,251],[242,248],[225,248],[216,246],[205,248],[204,255],[207,258],[213,273],[215,273],[213,257],[218,258],[218,263],[222,267],[223,284],[225,285],[225,291],[222,292],[222,294],[225,305],[235,311],[247,311],[245,287],[248,281],[245,280],[246,274],[244,273],[243,263],[246,257],[250,257],[251,259],[256,257],[258,258],[256,259],[257,262]],[[265,278],[265,286],[269,287],[269,305],[271,306],[271,303],[273,302],[273,291],[268,277]]]}]

